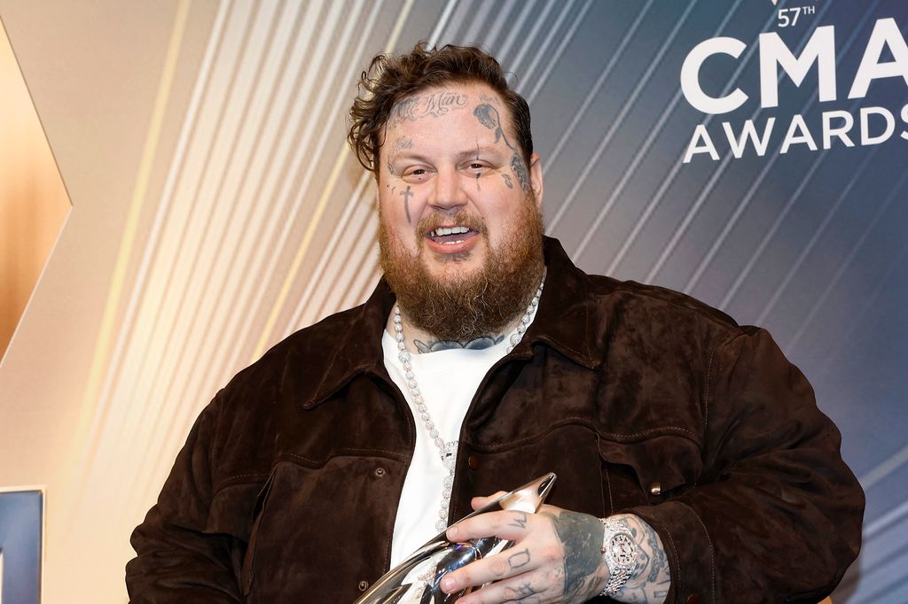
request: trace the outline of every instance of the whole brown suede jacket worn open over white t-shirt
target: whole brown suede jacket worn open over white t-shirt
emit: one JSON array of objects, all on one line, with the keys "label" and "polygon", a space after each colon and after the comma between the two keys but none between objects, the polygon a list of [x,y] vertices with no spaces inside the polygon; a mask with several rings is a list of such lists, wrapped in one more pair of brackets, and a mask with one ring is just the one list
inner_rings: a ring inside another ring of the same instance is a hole
[{"label": "whole brown suede jacket worn open over white t-shirt", "polygon": [[[656,529],[668,602],[824,598],[864,493],[804,375],[689,297],[589,276],[554,239],[546,262],[536,320],[464,420],[450,517],[557,472],[549,503]],[[348,604],[388,570],[417,430],[382,361],[392,304],[382,280],[214,397],[133,533],[133,602]]]}]

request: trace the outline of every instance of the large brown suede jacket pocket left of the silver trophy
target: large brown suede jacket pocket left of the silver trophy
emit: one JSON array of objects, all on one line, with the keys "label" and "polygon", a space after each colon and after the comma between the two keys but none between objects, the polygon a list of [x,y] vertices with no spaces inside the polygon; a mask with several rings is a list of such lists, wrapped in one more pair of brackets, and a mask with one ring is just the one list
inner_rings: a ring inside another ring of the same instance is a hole
[{"label": "large brown suede jacket pocket left of the silver trophy", "polygon": [[403,472],[380,457],[275,463],[243,560],[246,602],[357,599],[388,566]]}]

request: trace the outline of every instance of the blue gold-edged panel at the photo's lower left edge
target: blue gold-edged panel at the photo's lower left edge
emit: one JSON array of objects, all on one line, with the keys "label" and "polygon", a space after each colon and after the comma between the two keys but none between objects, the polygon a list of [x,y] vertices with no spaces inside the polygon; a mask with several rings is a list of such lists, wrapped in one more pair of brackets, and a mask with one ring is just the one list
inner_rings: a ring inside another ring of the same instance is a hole
[{"label": "blue gold-edged panel at the photo's lower left edge", "polygon": [[0,491],[0,604],[40,604],[44,492]]}]

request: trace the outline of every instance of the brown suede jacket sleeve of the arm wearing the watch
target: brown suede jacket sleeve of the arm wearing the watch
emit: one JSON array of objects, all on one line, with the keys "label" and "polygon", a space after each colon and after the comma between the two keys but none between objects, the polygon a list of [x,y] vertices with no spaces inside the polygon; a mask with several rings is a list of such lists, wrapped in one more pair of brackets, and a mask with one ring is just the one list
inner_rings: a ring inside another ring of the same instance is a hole
[{"label": "brown suede jacket sleeve of the arm wearing the watch", "polygon": [[840,434],[764,330],[745,327],[711,358],[704,474],[666,502],[628,510],[663,541],[666,602],[823,599],[861,544],[864,492]]}]

